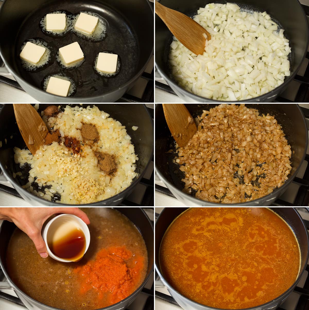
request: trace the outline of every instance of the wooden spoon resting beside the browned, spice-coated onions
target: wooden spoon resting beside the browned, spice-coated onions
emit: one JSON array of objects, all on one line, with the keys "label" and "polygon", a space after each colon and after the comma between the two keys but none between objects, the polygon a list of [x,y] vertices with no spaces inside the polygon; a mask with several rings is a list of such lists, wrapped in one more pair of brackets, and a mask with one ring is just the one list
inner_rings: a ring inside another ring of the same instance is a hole
[{"label": "wooden spoon resting beside the browned, spice-coated onions", "polygon": [[168,128],[177,142],[183,148],[197,131],[194,119],[184,104],[162,104]]}]

